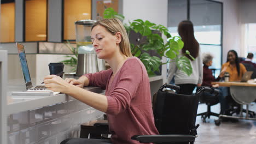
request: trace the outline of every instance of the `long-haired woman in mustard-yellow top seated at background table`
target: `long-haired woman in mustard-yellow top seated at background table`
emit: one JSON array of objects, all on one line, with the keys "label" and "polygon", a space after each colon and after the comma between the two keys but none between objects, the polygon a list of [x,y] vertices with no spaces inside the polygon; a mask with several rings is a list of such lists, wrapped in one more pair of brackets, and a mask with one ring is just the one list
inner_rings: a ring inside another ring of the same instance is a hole
[{"label": "long-haired woman in mustard-yellow top seated at background table", "polygon": [[[229,81],[241,81],[243,74],[246,72],[246,68],[243,64],[239,62],[237,52],[235,50],[230,50],[228,52],[226,63],[222,65],[222,70],[225,69],[226,72],[229,73]],[[230,113],[226,113],[226,110],[229,109],[229,105],[225,100],[228,95],[230,95],[229,87],[219,87],[220,91],[222,91],[222,98],[224,100],[223,110],[225,115],[230,115]]]}]

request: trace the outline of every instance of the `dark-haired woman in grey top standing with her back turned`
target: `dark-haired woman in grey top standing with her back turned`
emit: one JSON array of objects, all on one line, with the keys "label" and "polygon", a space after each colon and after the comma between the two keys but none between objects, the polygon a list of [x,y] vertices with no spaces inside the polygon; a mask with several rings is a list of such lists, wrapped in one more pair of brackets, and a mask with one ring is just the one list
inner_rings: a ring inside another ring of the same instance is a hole
[{"label": "dark-haired woman in grey top standing with her back turned", "polygon": [[[175,84],[181,87],[181,94],[192,94],[196,86],[201,86],[202,84],[202,58],[199,48],[199,43],[194,36],[193,23],[191,21],[185,20],[179,23],[178,33],[184,42],[184,47],[181,51],[183,55],[190,59],[191,66],[193,68],[193,73],[188,76],[182,70],[179,70],[175,62],[171,62],[169,65],[167,82],[172,80],[173,75],[175,75]],[[193,59],[186,54],[186,51],[190,52],[190,55],[195,58]]]}]

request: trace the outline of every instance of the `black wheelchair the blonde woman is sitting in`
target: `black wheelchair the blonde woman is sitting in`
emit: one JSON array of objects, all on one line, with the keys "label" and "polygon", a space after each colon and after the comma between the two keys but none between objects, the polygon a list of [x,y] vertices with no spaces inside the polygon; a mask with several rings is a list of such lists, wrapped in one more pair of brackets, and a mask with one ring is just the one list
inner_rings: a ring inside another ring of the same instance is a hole
[{"label": "black wheelchair the blonde woman is sitting in", "polygon": [[[216,93],[216,90],[201,87],[194,95],[183,95],[166,91],[167,88],[179,91],[178,86],[165,84],[153,98],[155,126],[160,135],[135,135],[131,139],[142,143],[193,143],[195,141],[196,129],[199,127],[195,125],[195,121],[200,94],[205,91]],[[99,128],[98,132],[101,134],[103,127],[107,129],[106,125],[107,123],[95,123],[94,127]],[[95,131],[91,133],[95,134]]]}]

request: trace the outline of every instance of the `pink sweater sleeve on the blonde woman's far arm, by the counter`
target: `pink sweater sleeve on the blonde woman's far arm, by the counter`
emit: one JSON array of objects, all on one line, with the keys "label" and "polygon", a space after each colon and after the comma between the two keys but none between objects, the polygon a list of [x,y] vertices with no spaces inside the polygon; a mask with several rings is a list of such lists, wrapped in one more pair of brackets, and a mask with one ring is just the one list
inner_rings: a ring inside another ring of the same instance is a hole
[{"label": "pink sweater sleeve on the blonde woman's far arm, by the counter", "polygon": [[89,86],[101,87],[106,89],[109,76],[112,74],[112,69],[102,70],[94,74],[85,74],[89,79]]}]

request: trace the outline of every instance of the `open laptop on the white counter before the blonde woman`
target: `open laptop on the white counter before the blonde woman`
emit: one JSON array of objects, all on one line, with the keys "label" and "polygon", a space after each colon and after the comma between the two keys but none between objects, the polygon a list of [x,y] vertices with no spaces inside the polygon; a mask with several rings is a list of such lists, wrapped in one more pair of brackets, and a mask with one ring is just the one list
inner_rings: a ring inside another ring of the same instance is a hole
[{"label": "open laptop on the white counter before the blonde woman", "polygon": [[[24,45],[16,43],[18,49],[18,55],[20,59],[22,74],[24,77],[26,92],[12,92],[12,95],[55,95],[60,92],[53,92],[47,89],[45,86],[32,86],[30,71],[28,70],[27,58],[25,54]],[[27,93],[30,92],[30,93]]]}]

